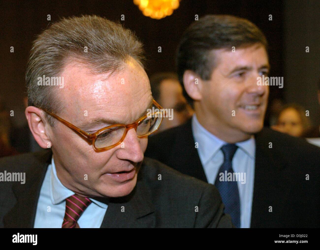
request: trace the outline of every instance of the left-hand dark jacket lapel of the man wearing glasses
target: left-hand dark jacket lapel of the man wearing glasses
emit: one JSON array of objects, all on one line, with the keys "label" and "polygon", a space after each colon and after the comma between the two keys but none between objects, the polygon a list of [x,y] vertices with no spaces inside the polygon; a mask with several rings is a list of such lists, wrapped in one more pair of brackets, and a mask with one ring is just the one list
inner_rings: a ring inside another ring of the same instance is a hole
[{"label": "left-hand dark jacket lapel of the man wearing glasses", "polygon": [[17,182],[12,186],[17,203],[4,216],[5,228],[33,228],[34,226],[40,189],[51,161],[52,151],[48,150],[34,157],[31,166],[26,166],[25,184]]}]

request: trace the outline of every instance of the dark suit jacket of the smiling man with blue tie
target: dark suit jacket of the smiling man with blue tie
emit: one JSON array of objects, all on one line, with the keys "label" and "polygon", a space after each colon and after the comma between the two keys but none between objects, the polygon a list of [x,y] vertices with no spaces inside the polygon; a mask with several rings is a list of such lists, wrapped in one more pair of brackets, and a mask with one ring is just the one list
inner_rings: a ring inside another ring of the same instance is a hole
[{"label": "dark suit jacket of the smiling man with blue tie", "polygon": [[[251,227],[319,227],[320,149],[268,128],[256,134],[255,141]],[[195,148],[191,119],[149,136],[145,155],[207,181]],[[269,206],[272,212],[268,212]]]}]

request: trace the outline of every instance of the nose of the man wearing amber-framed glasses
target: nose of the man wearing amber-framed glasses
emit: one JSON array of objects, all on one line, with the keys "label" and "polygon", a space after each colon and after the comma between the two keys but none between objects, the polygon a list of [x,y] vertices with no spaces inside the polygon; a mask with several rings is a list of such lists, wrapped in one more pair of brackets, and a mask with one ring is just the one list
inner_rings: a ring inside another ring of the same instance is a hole
[{"label": "nose of the man wearing amber-framed glasses", "polygon": [[117,157],[136,163],[141,162],[143,160],[143,151],[139,140],[136,130],[134,128],[130,129],[120,144]]}]

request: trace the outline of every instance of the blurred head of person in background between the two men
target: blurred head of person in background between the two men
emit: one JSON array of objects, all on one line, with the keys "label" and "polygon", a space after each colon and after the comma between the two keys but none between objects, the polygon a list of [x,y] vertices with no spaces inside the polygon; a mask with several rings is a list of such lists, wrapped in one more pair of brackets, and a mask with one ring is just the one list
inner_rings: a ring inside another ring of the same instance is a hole
[{"label": "blurred head of person in background between the two men", "polygon": [[164,109],[172,109],[172,120],[164,117],[158,132],[185,123],[193,110],[182,94],[178,75],[174,72],[156,73],[150,77],[151,92]]}]

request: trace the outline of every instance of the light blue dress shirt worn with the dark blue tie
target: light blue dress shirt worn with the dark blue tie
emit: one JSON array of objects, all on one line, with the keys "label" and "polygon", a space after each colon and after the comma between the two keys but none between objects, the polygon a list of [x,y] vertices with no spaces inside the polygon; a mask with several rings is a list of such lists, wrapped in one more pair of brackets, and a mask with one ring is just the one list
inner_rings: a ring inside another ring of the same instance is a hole
[{"label": "light blue dress shirt worn with the dark blue tie", "polygon": [[[192,133],[195,142],[198,142],[198,154],[204,168],[204,173],[209,183],[214,185],[220,166],[224,161],[221,147],[227,142],[220,140],[206,130],[197,120],[196,114],[192,117]],[[255,140],[252,136],[249,140],[236,143],[239,147],[232,159],[232,168],[236,173],[245,173],[244,181],[238,180],[240,196],[240,227],[249,228],[251,222],[254,164],[255,164]],[[243,183],[242,183],[243,182]]]}]

